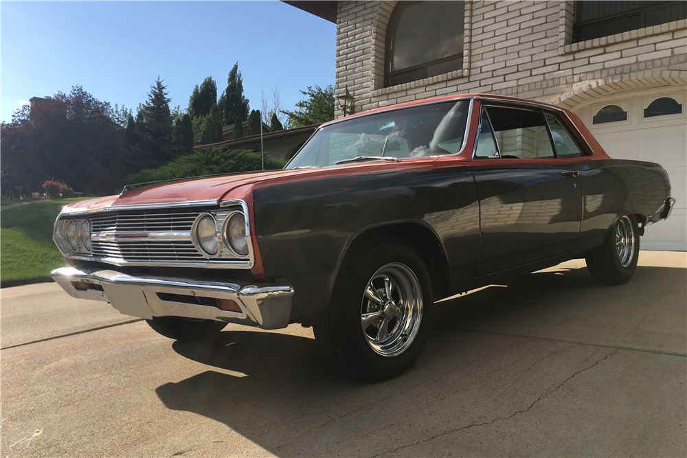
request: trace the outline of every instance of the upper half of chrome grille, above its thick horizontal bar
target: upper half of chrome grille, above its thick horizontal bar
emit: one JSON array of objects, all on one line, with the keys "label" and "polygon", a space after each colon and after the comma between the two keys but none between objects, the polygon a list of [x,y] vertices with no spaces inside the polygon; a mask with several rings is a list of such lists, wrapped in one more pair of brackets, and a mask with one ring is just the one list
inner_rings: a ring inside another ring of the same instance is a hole
[{"label": "upper half of chrome grille, above its thick horizontal bar", "polygon": [[107,213],[92,216],[91,232],[188,232],[191,230],[199,211],[185,211],[179,213]]}]

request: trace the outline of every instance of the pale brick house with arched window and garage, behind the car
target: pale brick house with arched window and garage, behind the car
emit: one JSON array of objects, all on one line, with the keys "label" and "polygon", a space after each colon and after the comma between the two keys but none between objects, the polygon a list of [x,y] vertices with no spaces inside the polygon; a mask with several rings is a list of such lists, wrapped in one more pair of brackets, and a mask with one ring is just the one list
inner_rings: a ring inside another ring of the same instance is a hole
[{"label": "pale brick house with arched window and garage, behind the car", "polygon": [[337,24],[335,90],[355,112],[511,95],[573,111],[613,158],[661,163],[677,205],[642,248],[687,251],[687,2],[286,3]]}]

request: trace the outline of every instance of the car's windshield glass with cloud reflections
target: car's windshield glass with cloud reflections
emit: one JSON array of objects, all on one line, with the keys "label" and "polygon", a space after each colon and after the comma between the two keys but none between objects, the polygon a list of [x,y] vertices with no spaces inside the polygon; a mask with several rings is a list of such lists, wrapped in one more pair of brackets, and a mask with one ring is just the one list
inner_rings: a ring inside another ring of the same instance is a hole
[{"label": "car's windshield glass with cloud reflections", "polygon": [[460,100],[412,106],[326,126],[286,168],[328,167],[356,158],[455,154],[463,143],[469,105],[469,100]]}]

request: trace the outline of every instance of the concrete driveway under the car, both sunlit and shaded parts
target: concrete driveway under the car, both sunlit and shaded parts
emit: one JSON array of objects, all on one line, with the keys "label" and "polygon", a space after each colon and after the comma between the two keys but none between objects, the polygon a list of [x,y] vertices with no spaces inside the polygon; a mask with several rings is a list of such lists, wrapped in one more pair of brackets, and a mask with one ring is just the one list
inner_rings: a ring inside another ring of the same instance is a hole
[{"label": "concrete driveway under the car, both sunlit and shaded parts", "polygon": [[416,365],[365,385],[310,329],[159,336],[55,284],[2,290],[3,457],[687,455],[687,254],[626,285],[568,262],[436,306]]}]

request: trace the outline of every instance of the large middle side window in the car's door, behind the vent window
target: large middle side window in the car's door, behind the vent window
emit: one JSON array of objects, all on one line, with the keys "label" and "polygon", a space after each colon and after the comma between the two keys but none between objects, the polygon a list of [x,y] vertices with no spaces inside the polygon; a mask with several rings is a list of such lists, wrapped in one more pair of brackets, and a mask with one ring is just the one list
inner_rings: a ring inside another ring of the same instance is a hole
[{"label": "large middle side window in the car's door, behind the vent window", "polygon": [[487,106],[486,111],[502,158],[555,157],[541,111],[504,106]]}]

